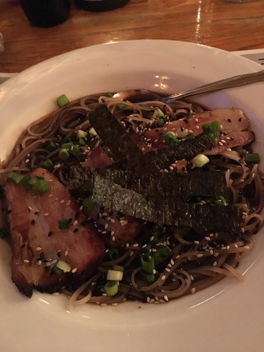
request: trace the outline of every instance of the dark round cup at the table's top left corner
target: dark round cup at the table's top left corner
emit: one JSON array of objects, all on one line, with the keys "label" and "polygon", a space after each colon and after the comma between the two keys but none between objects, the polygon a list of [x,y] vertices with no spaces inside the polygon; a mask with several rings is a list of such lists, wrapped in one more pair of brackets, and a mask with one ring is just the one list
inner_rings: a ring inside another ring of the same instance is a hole
[{"label": "dark round cup at the table's top left corner", "polygon": [[20,0],[21,7],[35,27],[54,27],[67,20],[70,0]]}]

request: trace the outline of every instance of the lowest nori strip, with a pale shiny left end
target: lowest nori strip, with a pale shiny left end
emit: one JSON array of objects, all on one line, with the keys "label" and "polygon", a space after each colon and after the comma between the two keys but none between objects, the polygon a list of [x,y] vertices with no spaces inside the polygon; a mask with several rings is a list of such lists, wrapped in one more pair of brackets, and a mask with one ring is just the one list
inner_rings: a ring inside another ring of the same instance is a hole
[{"label": "lowest nori strip, with a pale shiny left end", "polygon": [[189,204],[173,198],[147,199],[100,175],[95,177],[91,200],[126,215],[158,224],[193,227],[204,233],[239,233],[239,207]]}]

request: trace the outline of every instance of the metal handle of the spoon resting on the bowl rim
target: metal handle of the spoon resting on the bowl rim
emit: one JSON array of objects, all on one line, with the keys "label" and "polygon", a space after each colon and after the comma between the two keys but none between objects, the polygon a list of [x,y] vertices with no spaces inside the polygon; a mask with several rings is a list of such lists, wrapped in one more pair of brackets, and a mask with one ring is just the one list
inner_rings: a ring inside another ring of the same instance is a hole
[{"label": "metal handle of the spoon resting on the bowl rim", "polygon": [[245,86],[246,84],[256,83],[260,81],[264,81],[264,70],[226,78],[225,80],[205,84],[204,86],[198,88],[186,90],[185,92],[169,96],[166,101],[170,102],[173,100],[186,98],[187,96],[206,92],[213,92],[219,89],[241,87]]}]

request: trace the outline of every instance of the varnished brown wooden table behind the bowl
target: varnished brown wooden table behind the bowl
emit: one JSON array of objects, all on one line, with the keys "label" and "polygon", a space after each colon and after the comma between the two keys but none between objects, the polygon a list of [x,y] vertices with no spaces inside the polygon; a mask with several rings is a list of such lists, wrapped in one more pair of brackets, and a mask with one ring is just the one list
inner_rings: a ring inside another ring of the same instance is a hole
[{"label": "varnished brown wooden table behind the bowl", "polygon": [[183,40],[225,50],[264,48],[264,1],[131,0],[117,10],[91,13],[72,6],[63,24],[34,28],[17,0],[0,0],[5,50],[0,72],[19,72],[84,46],[131,39]]}]

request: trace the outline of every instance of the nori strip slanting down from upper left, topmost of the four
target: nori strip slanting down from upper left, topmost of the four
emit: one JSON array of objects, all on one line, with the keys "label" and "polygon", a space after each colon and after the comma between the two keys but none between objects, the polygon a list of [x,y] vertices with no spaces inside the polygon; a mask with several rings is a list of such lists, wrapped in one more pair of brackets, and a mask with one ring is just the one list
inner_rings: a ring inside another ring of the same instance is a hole
[{"label": "nori strip slanting down from upper left, topmost of the four", "polygon": [[158,172],[157,166],[133,142],[126,129],[104,104],[88,114],[90,124],[117,160],[128,170]]}]

